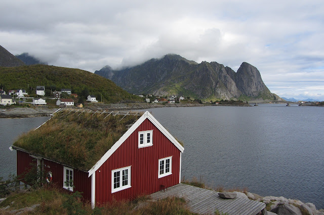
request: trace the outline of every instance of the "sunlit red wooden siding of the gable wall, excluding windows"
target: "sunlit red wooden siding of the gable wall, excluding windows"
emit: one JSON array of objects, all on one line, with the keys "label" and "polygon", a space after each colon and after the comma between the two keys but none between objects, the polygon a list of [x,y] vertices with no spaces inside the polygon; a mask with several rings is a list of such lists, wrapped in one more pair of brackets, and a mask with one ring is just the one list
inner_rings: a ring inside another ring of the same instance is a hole
[{"label": "sunlit red wooden siding of the gable wall, excluding windows", "polygon": [[[153,130],[153,146],[138,148],[138,132]],[[96,202],[132,199],[179,184],[180,150],[146,119],[96,171]],[[172,156],[172,174],[158,179],[158,159]],[[131,166],[131,188],[111,193],[111,171]]]}]

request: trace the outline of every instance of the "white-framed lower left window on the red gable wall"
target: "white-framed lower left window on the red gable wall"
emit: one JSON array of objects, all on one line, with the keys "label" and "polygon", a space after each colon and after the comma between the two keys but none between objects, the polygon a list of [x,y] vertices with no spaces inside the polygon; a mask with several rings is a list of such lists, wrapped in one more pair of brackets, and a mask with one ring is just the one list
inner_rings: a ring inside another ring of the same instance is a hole
[{"label": "white-framed lower left window on the red gable wall", "polygon": [[131,166],[111,171],[111,193],[131,187]]}]

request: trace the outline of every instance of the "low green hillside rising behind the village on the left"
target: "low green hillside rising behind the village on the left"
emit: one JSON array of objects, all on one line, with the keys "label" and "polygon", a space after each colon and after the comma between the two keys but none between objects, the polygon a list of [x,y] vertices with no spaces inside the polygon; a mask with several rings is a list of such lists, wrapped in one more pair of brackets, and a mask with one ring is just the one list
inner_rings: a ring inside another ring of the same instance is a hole
[{"label": "low green hillside rising behind the village on the left", "polygon": [[35,94],[36,86],[45,86],[47,93],[61,88],[70,88],[79,96],[95,95],[97,100],[105,103],[135,102],[138,96],[132,95],[118,87],[112,81],[88,71],[32,65],[21,67],[0,67],[0,88],[4,90],[25,89],[29,95]]}]

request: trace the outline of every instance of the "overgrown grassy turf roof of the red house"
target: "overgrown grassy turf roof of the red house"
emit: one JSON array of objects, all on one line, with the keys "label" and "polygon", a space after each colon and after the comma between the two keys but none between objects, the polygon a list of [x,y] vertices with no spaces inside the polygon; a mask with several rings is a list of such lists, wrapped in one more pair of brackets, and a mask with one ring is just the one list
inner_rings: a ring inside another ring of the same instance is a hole
[{"label": "overgrown grassy turf roof of the red house", "polygon": [[142,115],[68,113],[56,113],[37,130],[21,135],[14,146],[88,171]]}]

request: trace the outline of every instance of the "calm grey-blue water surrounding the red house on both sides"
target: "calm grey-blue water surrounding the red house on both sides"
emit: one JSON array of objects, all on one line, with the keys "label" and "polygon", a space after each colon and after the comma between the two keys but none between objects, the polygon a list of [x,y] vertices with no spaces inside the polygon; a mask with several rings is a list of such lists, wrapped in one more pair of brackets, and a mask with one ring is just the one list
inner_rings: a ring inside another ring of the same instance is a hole
[{"label": "calm grey-blue water surrounding the red house on both sides", "polygon": [[[286,105],[149,110],[184,142],[182,177],[209,186],[248,187],[324,208],[324,108]],[[48,118],[0,119],[0,176],[15,173],[8,148],[17,132]]]}]

